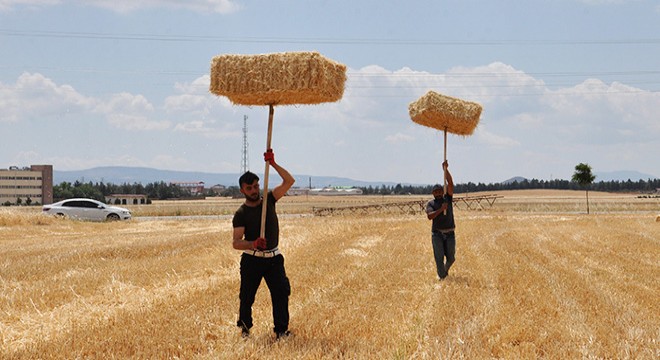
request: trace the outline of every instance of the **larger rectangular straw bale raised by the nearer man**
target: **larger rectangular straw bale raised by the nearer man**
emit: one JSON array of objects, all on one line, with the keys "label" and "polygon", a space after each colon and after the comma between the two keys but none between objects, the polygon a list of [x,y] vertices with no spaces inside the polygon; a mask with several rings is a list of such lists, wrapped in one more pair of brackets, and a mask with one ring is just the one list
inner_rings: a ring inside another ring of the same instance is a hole
[{"label": "larger rectangular straw bale raised by the nearer man", "polygon": [[345,82],[346,65],[317,52],[219,55],[209,91],[236,105],[318,104],[341,99]]}]

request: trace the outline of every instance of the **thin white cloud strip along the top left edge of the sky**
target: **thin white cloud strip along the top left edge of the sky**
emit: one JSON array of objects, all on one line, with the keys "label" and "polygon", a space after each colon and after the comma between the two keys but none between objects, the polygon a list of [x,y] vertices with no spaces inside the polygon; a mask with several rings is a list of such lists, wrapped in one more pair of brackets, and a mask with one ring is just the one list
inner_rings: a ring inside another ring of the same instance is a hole
[{"label": "thin white cloud strip along the top left edge of the sky", "polygon": [[[233,0],[75,0],[83,6],[95,6],[118,13],[128,13],[143,9],[168,8],[183,9],[199,13],[229,14],[240,10]],[[40,8],[60,5],[63,0],[0,0],[0,11],[10,11],[16,7]]]}]

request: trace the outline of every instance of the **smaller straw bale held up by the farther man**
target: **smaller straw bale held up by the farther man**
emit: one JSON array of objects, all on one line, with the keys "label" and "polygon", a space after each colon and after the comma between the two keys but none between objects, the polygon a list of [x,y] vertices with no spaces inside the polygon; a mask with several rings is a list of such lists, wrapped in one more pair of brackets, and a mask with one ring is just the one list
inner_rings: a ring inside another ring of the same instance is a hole
[{"label": "smaller straw bale held up by the farther man", "polygon": [[429,91],[408,105],[410,118],[424,126],[471,135],[479,123],[481,105]]}]

